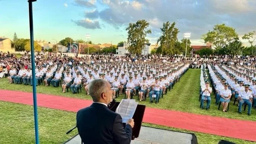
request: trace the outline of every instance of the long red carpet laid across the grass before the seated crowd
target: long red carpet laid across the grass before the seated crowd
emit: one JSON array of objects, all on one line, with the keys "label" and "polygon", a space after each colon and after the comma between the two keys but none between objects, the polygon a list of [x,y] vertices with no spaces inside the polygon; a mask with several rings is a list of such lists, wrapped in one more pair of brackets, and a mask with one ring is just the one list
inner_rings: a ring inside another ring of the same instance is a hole
[{"label": "long red carpet laid across the grass before the seated crowd", "polygon": [[[33,95],[28,92],[0,90],[0,100],[33,105]],[[77,112],[79,109],[87,107],[92,103],[91,100],[44,95],[40,93],[37,94],[37,102],[38,106],[71,112]],[[146,108],[143,122],[256,141],[256,122],[253,121]]]}]

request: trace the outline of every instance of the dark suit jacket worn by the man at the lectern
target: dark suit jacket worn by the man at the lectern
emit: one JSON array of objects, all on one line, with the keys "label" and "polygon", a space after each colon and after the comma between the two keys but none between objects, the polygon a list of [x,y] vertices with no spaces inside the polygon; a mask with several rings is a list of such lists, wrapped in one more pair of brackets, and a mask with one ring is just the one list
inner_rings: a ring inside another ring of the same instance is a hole
[{"label": "dark suit jacket worn by the man at the lectern", "polygon": [[77,112],[77,129],[84,144],[130,144],[132,127],[101,103]]}]

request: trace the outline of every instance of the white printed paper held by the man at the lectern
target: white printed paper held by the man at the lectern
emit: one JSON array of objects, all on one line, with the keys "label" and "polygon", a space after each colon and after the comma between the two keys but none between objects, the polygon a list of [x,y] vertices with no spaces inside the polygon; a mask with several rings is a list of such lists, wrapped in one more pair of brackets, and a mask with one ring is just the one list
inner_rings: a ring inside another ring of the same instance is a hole
[{"label": "white printed paper held by the man at the lectern", "polygon": [[138,103],[135,99],[122,99],[116,108],[116,113],[121,115],[123,123],[126,123],[135,113]]}]

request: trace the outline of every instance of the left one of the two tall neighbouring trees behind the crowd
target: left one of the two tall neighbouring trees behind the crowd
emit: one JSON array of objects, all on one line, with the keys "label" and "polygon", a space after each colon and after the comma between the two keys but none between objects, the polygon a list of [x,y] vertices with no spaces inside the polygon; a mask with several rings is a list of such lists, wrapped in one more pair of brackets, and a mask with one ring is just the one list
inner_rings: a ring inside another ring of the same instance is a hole
[{"label": "left one of the two tall neighbouring trees behind the crowd", "polygon": [[141,54],[145,44],[148,43],[148,39],[145,37],[151,30],[146,30],[149,23],[146,20],[138,20],[136,23],[129,23],[129,26],[125,29],[128,31],[127,42],[130,44],[127,48],[130,54]]}]

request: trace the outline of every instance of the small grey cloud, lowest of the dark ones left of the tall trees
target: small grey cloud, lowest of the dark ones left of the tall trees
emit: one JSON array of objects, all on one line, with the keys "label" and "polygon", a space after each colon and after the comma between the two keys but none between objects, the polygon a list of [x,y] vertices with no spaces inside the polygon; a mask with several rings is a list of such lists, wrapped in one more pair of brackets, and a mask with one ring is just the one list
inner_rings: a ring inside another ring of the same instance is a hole
[{"label": "small grey cloud, lowest of the dark ones left of the tall trees", "polygon": [[91,19],[82,19],[82,20],[72,20],[74,23],[76,23],[78,26],[81,26],[83,28],[87,29],[100,29],[100,24],[98,20],[91,20]]}]

